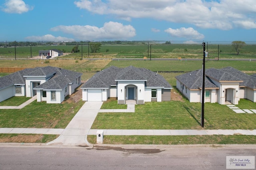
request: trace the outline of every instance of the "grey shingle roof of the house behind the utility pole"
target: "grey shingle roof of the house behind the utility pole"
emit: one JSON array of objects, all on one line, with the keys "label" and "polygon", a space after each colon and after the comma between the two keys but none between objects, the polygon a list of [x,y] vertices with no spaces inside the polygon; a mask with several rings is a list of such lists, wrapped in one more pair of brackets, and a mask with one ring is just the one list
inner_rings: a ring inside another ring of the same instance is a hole
[{"label": "grey shingle roof of the house behind the utility pole", "polygon": [[[209,68],[205,70],[205,88],[217,87],[211,78],[219,82],[239,82],[239,86],[256,89],[256,77],[245,74],[233,67]],[[202,69],[176,76],[189,89],[202,88]]]}]

